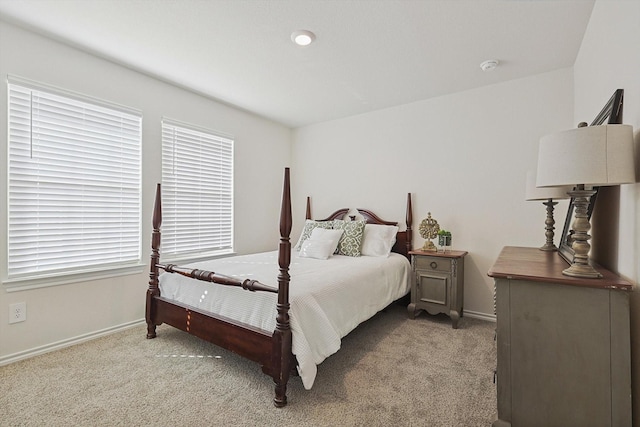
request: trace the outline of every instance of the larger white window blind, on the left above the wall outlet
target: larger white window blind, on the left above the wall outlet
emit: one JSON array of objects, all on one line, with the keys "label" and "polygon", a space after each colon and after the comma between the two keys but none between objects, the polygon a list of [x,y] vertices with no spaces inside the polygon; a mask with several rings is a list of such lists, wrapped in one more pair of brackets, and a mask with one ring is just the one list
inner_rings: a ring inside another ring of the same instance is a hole
[{"label": "larger white window blind, on the left above the wall outlet", "polygon": [[139,263],[140,114],[8,88],[8,277]]}]

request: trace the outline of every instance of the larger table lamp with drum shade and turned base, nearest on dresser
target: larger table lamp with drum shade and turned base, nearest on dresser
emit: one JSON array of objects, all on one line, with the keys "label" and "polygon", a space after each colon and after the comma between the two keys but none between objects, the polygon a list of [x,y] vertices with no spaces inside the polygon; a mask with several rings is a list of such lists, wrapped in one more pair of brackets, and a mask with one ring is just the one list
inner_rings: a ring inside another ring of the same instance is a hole
[{"label": "larger table lamp with drum shade and turned base, nearest on dresser", "polygon": [[538,151],[538,187],[571,185],[575,220],[572,228],[573,262],[562,273],[572,277],[600,278],[589,264],[587,215],[593,187],[635,182],[633,129],[630,125],[587,126],[544,136]]}]

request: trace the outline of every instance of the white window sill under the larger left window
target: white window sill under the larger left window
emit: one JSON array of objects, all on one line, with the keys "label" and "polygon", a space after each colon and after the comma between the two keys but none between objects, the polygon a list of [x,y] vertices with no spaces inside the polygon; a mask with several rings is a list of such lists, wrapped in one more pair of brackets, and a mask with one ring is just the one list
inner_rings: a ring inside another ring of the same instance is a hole
[{"label": "white window sill under the larger left window", "polygon": [[30,289],[46,288],[49,286],[68,285],[78,282],[90,282],[93,280],[108,279],[110,277],[129,276],[145,271],[147,265],[132,264],[127,266],[111,266],[108,269],[83,270],[77,272],[64,272],[24,278],[5,278],[2,280],[7,292],[26,291]]}]

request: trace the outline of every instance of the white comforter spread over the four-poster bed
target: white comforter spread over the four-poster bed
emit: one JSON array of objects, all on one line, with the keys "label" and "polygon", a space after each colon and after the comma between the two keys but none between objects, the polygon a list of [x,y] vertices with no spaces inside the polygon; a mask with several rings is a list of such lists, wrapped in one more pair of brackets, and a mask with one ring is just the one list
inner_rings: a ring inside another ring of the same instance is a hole
[{"label": "white comforter spread over the four-poster bed", "polygon": [[[189,264],[238,279],[278,284],[278,253],[264,252]],[[388,258],[333,255],[327,260],[291,256],[289,311],[292,350],[310,389],[317,365],[340,349],[340,340],[410,289],[411,266],[402,255]],[[277,295],[160,275],[160,292],[185,304],[273,331]]]}]

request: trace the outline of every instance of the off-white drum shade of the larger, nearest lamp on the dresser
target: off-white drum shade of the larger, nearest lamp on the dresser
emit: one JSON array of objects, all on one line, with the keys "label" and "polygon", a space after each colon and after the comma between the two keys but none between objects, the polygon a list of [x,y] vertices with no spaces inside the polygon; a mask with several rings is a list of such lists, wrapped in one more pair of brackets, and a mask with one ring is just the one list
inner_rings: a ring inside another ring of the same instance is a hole
[{"label": "off-white drum shade of the larger, nearest lamp on the dresser", "polygon": [[538,151],[538,187],[635,182],[633,128],[585,126],[544,136]]}]

